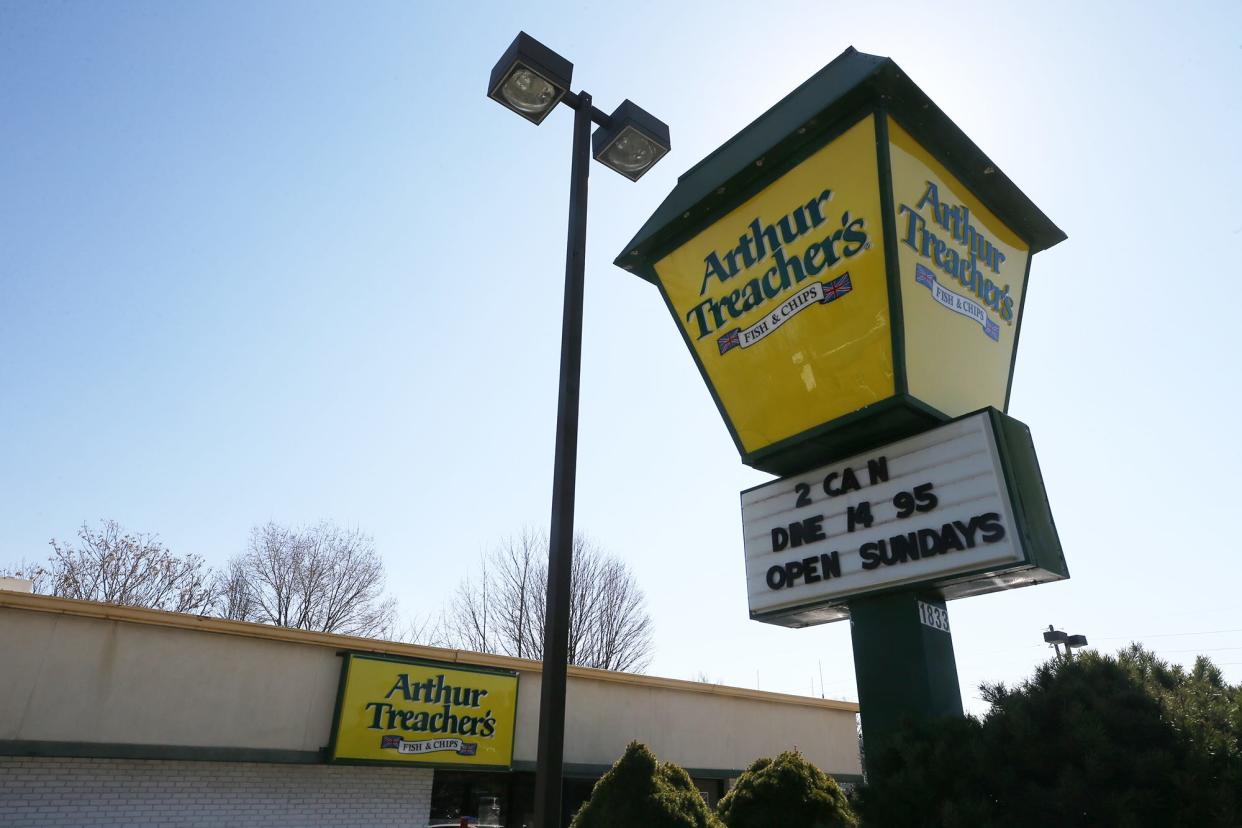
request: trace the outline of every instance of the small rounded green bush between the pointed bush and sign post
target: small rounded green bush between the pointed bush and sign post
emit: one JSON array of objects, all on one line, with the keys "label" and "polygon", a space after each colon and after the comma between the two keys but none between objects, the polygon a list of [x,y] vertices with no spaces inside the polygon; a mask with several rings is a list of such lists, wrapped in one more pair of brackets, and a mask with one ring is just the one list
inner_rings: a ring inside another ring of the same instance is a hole
[{"label": "small rounded green bush between the pointed bush and sign post", "polygon": [[728,828],[838,828],[857,826],[846,794],[795,751],[760,758],[717,807]]}]

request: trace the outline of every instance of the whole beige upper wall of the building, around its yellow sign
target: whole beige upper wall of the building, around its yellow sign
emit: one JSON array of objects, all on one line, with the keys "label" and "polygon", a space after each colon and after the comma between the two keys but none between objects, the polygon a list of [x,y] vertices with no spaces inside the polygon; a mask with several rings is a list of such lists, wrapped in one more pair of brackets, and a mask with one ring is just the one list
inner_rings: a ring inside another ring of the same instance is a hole
[{"label": "whole beige upper wall of the building, around its yellow sign", "polygon": [[[342,649],[519,670],[514,761],[534,761],[533,662],[14,592],[0,592],[0,741],[318,751]],[[856,710],[571,668],[565,761],[610,765],[637,739],[686,767],[737,770],[796,745],[823,770],[854,775]]]}]

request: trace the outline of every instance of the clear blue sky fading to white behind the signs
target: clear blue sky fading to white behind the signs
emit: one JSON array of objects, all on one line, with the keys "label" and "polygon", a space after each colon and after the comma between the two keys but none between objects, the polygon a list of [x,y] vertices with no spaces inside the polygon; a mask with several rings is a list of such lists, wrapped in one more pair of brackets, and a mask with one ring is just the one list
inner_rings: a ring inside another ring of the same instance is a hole
[{"label": "clear blue sky fading to white behind the signs", "polygon": [[[853,698],[846,624],[746,618],[740,464],[614,254],[846,46],[888,55],[1069,235],[1010,413],[1073,578],[950,606],[968,705],[1056,623],[1242,680],[1242,5],[0,4],[0,564],[111,518],[214,564],[251,526],[375,536],[438,611],[548,521],[570,112],[484,97],[524,29],[667,120],[595,165],[579,526],[630,561],[651,672]],[[1222,631],[1222,632],[1216,632]]]}]

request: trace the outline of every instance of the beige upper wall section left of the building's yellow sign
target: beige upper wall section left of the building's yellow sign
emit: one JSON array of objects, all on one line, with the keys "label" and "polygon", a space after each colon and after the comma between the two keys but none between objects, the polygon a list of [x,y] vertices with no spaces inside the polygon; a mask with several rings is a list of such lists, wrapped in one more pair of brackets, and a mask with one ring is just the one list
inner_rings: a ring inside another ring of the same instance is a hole
[{"label": "beige upper wall section left of the building's yellow sign", "polygon": [[0,608],[0,739],[312,751],[340,660],[322,647]]}]

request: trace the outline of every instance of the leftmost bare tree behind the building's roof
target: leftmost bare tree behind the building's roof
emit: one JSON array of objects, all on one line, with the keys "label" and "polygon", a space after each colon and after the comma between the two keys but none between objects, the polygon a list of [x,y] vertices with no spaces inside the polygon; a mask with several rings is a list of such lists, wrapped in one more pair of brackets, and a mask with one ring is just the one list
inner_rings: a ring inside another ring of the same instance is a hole
[{"label": "leftmost bare tree behind the building's roof", "polygon": [[128,533],[116,520],[82,524],[75,544],[51,541],[47,564],[22,564],[15,574],[35,591],[61,598],[204,613],[215,601],[210,567],[197,555],[179,556],[156,535]]}]

